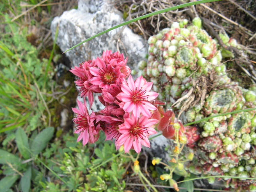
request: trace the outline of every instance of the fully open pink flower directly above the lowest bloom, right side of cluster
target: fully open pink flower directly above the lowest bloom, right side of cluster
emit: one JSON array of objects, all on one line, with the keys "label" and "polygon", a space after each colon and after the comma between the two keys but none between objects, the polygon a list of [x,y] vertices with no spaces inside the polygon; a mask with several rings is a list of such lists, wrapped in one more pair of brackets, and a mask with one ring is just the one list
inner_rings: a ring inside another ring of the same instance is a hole
[{"label": "fully open pink flower directly above the lowest bloom, right side of cluster", "polygon": [[135,117],[139,117],[142,113],[146,117],[151,117],[150,110],[156,110],[156,107],[149,101],[154,100],[158,93],[150,91],[153,83],[146,82],[140,76],[135,83],[130,75],[127,81],[128,84],[122,84],[122,92],[116,96],[124,104],[120,104],[125,112],[132,112]]}]

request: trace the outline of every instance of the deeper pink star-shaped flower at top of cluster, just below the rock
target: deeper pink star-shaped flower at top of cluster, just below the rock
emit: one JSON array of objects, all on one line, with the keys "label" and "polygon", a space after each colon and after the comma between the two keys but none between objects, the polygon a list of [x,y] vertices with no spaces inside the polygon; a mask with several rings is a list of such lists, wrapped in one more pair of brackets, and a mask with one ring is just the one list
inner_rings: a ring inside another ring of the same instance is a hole
[{"label": "deeper pink star-shaped flower at top of cluster, just below the rock", "polygon": [[111,64],[105,64],[100,58],[97,58],[97,65],[98,68],[90,67],[91,74],[95,76],[90,82],[100,88],[109,88],[111,84],[116,84],[118,77],[125,76],[120,72],[120,66],[113,67]]}]

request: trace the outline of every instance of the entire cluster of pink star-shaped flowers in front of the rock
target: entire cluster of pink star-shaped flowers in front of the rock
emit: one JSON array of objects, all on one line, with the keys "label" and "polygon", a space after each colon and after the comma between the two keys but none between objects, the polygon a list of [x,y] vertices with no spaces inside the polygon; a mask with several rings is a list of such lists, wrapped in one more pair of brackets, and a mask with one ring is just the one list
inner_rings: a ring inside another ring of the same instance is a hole
[{"label": "entire cluster of pink star-shaped flowers in front of the rock", "polygon": [[102,130],[106,140],[115,140],[116,149],[124,145],[125,152],[134,149],[139,153],[142,145],[150,147],[148,136],[156,133],[152,126],[160,119],[153,118],[158,93],[150,91],[153,83],[142,76],[134,81],[126,62],[123,54],[107,50],[102,57],[71,68],[77,76],[75,83],[80,96],[88,97],[90,108],[93,93],[100,94],[98,98],[105,106],[89,115],[84,99],[84,104],[77,101],[79,109],[72,108],[76,114],[75,133],[80,134],[77,141],[83,140],[84,145],[98,140]]}]

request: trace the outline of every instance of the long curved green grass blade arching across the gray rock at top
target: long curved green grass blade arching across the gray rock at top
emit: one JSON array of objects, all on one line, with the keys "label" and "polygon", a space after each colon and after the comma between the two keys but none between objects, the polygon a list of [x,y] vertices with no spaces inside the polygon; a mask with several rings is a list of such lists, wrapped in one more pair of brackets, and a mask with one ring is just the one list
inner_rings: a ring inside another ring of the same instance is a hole
[{"label": "long curved green grass blade arching across the gray rock at top", "polygon": [[138,20],[141,20],[141,19],[144,19],[144,18],[153,16],[153,15],[157,15],[157,14],[160,14],[160,13],[164,13],[164,12],[167,12],[167,11],[171,11],[171,10],[175,10],[175,9],[179,9],[179,8],[183,8],[183,7],[187,7],[187,6],[191,6],[191,5],[197,5],[197,4],[201,4],[201,3],[213,2],[213,1],[220,1],[220,0],[199,0],[199,1],[194,1],[194,2],[184,3],[184,4],[181,4],[181,5],[172,6],[172,7],[170,7],[170,8],[166,8],[166,9],[162,9],[162,10],[159,10],[159,11],[155,11],[155,12],[152,12],[152,13],[149,13],[149,14],[146,14],[146,15],[142,15],[142,16],[140,16],[140,17],[131,19],[131,20],[129,20],[129,21],[126,21],[126,22],[123,22],[123,23],[121,23],[121,24],[118,24],[118,25],[116,25],[116,26],[114,26],[114,27],[112,27],[112,28],[109,28],[109,29],[107,29],[107,30],[104,30],[104,31],[102,31],[102,32],[100,32],[100,33],[98,33],[98,34],[96,34],[96,35],[94,35],[94,36],[92,36],[92,37],[90,37],[90,38],[88,38],[88,39],[86,39],[86,40],[84,40],[84,41],[82,41],[82,42],[76,44],[75,46],[73,46],[72,48],[69,48],[68,50],[66,50],[66,51],[63,52],[63,53],[66,53],[67,51],[72,50],[73,48],[75,48],[75,47],[77,47],[77,46],[79,46],[79,45],[81,45],[81,44],[83,44],[83,43],[85,43],[85,42],[87,42],[87,41],[89,41],[89,40],[92,40],[92,39],[95,38],[95,37],[98,37],[98,36],[100,36],[100,35],[102,35],[102,34],[104,34],[104,33],[107,33],[107,32],[109,32],[109,31],[112,31],[112,30],[114,30],[114,29],[116,29],[116,28],[118,28],[118,27],[122,27],[122,26],[124,26],[124,25],[130,24],[130,23],[132,23],[132,22],[134,22],[134,21],[138,21]]}]

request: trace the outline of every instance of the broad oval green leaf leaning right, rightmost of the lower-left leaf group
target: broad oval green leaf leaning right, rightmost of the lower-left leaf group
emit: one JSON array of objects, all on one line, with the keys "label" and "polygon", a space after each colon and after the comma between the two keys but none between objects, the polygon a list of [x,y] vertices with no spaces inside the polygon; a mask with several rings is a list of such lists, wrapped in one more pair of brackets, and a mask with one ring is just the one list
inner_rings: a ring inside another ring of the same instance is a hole
[{"label": "broad oval green leaf leaning right, rightmost of the lower-left leaf group", "polygon": [[42,130],[42,132],[40,132],[36,136],[34,141],[32,142],[32,146],[31,146],[32,153],[34,155],[37,155],[40,152],[42,152],[42,150],[44,150],[44,148],[46,148],[46,144],[47,144],[47,142],[50,141],[53,134],[54,134],[54,128],[53,127],[48,127],[46,129]]}]

